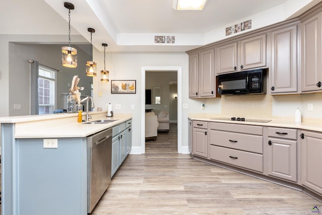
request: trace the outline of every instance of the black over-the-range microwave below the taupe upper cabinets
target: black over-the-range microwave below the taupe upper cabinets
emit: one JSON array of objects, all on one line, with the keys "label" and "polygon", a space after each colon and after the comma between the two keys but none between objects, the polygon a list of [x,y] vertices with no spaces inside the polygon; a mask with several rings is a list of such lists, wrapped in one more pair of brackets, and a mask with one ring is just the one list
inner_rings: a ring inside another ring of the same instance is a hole
[{"label": "black over-the-range microwave below the taupe upper cabinets", "polygon": [[218,75],[220,95],[266,94],[266,69]]}]

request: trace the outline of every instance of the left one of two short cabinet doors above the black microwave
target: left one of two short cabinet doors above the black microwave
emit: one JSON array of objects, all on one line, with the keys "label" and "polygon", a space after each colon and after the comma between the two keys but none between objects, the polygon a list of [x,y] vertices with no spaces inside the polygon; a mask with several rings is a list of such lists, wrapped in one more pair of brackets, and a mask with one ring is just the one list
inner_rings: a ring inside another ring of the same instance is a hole
[{"label": "left one of two short cabinet doors above the black microwave", "polygon": [[215,74],[237,70],[237,43],[230,43],[216,48]]}]

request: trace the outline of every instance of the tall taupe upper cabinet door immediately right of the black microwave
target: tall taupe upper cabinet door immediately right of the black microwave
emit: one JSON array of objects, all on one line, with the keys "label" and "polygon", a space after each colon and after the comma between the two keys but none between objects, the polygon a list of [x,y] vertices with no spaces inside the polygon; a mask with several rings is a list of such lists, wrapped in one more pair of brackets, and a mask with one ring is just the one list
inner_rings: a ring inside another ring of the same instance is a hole
[{"label": "tall taupe upper cabinet door immediately right of the black microwave", "polygon": [[271,34],[271,93],[297,92],[297,26]]}]

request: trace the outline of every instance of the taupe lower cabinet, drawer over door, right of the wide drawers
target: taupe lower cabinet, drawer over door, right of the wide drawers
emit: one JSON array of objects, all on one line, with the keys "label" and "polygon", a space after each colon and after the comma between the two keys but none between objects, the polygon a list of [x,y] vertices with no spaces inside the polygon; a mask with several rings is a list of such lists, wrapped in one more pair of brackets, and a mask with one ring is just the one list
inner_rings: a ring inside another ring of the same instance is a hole
[{"label": "taupe lower cabinet, drawer over door, right of the wide drawers", "polygon": [[297,130],[268,127],[268,175],[297,182]]}]

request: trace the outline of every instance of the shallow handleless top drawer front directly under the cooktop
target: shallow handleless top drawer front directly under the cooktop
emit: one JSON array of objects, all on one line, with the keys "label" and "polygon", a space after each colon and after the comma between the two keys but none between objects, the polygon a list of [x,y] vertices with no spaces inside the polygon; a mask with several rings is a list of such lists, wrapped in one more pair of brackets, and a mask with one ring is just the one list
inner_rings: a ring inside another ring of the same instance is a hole
[{"label": "shallow handleless top drawer front directly under the cooktop", "polygon": [[263,126],[210,122],[210,129],[263,135]]}]

